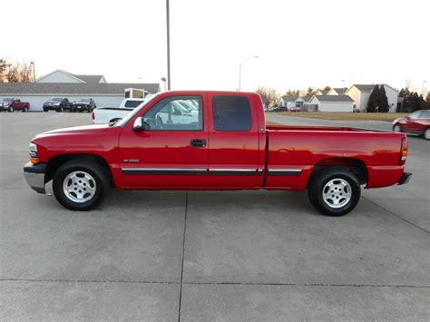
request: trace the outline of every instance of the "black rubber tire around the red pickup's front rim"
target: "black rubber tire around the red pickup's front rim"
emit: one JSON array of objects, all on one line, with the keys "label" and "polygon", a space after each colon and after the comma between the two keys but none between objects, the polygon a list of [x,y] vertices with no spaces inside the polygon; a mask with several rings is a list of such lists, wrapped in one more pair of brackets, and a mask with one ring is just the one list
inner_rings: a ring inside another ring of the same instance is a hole
[{"label": "black rubber tire around the red pickup's front rim", "polygon": [[[65,194],[63,189],[64,180],[74,171],[84,171],[93,177],[95,192],[90,200],[75,202]],[[84,159],[68,161],[55,172],[53,190],[55,199],[65,208],[75,211],[93,210],[102,203],[109,190],[108,173],[95,161]]]}]

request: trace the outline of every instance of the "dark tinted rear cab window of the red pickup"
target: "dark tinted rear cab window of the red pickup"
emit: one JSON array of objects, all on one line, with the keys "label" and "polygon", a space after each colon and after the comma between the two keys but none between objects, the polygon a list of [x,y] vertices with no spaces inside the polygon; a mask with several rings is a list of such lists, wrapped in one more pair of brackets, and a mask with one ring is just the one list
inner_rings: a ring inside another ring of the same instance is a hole
[{"label": "dark tinted rear cab window of the red pickup", "polygon": [[215,131],[248,132],[252,128],[252,113],[248,97],[217,95],[213,97]]}]

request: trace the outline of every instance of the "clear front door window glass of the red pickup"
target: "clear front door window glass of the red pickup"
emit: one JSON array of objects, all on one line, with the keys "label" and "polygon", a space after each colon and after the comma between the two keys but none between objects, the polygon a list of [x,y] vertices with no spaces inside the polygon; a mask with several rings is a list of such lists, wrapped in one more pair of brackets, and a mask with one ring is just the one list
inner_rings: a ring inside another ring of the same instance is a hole
[{"label": "clear front door window glass of the red pickup", "polygon": [[200,96],[173,96],[157,102],[143,115],[148,131],[203,131]]}]

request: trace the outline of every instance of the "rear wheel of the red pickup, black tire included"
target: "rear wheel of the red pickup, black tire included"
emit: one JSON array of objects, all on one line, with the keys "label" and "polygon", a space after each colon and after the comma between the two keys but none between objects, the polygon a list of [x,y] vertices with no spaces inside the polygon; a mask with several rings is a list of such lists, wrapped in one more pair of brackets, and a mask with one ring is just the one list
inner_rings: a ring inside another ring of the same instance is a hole
[{"label": "rear wheel of the red pickup, black tire included", "polygon": [[[326,186],[330,181],[336,185],[336,190],[330,191]],[[349,187],[345,187],[344,189],[346,190],[339,189],[338,187],[341,184],[344,184],[345,181]],[[334,193],[331,195],[333,197],[330,198],[330,196],[328,196],[327,201],[323,196],[325,191]],[[349,200],[345,198],[347,193],[349,193]],[[360,197],[361,188],[357,176],[345,168],[336,167],[331,169],[329,168],[324,171],[318,171],[317,173],[313,174],[313,178],[309,182],[309,201],[315,207],[315,209],[326,216],[339,217],[346,215],[348,212],[356,208]],[[335,205],[332,202],[330,205],[330,202],[328,202],[329,200],[337,200],[337,202],[340,202],[340,204]]]}]

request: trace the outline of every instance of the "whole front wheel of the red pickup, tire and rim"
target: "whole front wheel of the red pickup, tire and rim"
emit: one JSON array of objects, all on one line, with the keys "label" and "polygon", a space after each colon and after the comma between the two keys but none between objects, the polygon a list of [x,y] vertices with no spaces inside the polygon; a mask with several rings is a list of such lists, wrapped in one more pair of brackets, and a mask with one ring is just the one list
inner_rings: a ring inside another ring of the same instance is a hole
[{"label": "whole front wheel of the red pickup, tire and rim", "polygon": [[93,210],[102,203],[108,189],[107,174],[95,161],[68,161],[54,175],[54,196],[69,210]]}]

